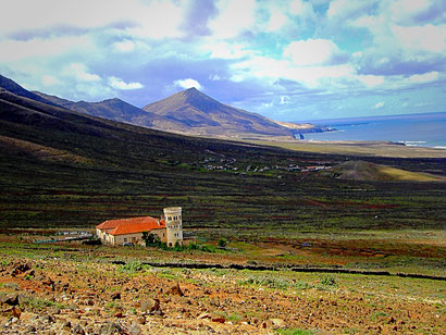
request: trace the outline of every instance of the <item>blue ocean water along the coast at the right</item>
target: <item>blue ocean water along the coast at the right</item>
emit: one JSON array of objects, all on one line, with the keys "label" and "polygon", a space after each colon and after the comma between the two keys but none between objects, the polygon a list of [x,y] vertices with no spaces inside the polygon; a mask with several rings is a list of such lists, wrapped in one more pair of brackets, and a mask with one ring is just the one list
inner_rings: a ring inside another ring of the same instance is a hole
[{"label": "blue ocean water along the coast at the right", "polygon": [[309,122],[336,131],[303,134],[306,140],[391,140],[446,149],[446,112]]}]

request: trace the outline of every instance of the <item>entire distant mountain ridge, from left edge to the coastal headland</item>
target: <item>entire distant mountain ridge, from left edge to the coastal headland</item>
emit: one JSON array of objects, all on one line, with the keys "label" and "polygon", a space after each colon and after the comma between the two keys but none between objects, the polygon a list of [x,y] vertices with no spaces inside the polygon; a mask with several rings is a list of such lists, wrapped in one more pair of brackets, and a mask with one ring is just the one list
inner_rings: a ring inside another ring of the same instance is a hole
[{"label": "entire distant mountain ridge, from left edge to the coastal headland", "polygon": [[12,79],[0,77],[0,87],[35,101],[71,111],[191,136],[232,139],[289,140],[301,132],[320,131],[313,125],[282,123],[257,113],[224,104],[197,88],[188,88],[137,108],[119,98],[99,102],[71,101],[39,91],[27,91]]}]

